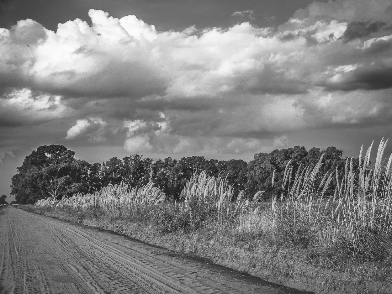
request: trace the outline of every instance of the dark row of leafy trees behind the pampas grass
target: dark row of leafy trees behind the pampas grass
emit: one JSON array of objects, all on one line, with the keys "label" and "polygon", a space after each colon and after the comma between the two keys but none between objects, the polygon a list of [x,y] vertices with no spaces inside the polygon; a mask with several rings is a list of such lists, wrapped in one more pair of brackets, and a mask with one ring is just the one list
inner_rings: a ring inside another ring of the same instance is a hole
[{"label": "dark row of leafy trees behind the pampas grass", "polygon": [[[269,153],[257,153],[249,163],[243,160],[206,160],[204,156],[170,157],[153,162],[139,154],[131,154],[122,160],[116,157],[100,163],[88,163],[75,159],[75,152],[63,145],[44,145],[26,156],[18,173],[12,177],[11,195],[17,203],[34,203],[42,198],[70,197],[75,193],[91,193],[109,183],[125,182],[131,187],[141,187],[154,181],[169,197],[178,199],[181,191],[195,172],[206,171],[209,176],[221,175],[234,187],[253,197],[257,191],[271,191],[272,174],[275,170],[274,192],[280,193],[283,172],[291,160],[294,172],[300,167],[315,165],[321,155],[321,172],[337,169],[343,172],[345,159],[335,147],[320,150],[313,147],[295,146],[276,149]],[[358,160],[354,162],[358,163]],[[336,181],[336,180],[335,180]],[[336,183],[332,182],[332,186]],[[270,193],[265,193],[265,197]],[[267,199],[265,199],[267,200]]]}]

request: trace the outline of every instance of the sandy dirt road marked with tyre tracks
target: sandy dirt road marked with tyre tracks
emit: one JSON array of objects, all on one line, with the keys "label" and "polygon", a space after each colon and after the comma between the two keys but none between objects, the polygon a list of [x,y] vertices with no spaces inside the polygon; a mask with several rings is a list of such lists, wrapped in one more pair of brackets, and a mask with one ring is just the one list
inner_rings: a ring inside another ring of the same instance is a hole
[{"label": "sandy dirt road marked with tyre tracks", "polygon": [[223,267],[13,207],[0,209],[0,293],[277,293]]}]

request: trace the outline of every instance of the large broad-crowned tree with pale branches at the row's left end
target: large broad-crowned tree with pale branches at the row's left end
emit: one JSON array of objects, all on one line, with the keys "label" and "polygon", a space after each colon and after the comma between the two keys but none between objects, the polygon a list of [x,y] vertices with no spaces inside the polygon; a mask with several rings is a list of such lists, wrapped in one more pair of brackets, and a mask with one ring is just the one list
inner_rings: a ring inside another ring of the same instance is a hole
[{"label": "large broad-crowned tree with pale branches at the row's left end", "polygon": [[11,194],[21,204],[51,197],[60,199],[94,189],[89,182],[91,165],[74,158],[63,145],[44,145],[27,156],[12,177]]}]

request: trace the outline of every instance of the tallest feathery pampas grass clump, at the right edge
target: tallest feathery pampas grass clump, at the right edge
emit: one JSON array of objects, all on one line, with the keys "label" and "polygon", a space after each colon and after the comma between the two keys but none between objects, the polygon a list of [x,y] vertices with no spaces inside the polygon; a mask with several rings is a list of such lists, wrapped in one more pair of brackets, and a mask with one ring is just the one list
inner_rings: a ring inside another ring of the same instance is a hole
[{"label": "tallest feathery pampas grass clump, at the right edge", "polygon": [[[289,162],[279,214],[287,221],[293,242],[293,232],[302,230],[309,236],[308,243],[323,249],[334,247],[372,260],[390,259],[392,155],[388,161],[384,158],[386,145],[387,141],[381,140],[374,165],[370,164],[373,143],[364,158],[362,146],[358,169],[354,169],[353,158],[347,159],[342,177],[337,169],[319,173],[323,157],[314,167],[298,169],[294,177],[290,176],[293,168]],[[330,189],[333,177],[336,186]]]}]

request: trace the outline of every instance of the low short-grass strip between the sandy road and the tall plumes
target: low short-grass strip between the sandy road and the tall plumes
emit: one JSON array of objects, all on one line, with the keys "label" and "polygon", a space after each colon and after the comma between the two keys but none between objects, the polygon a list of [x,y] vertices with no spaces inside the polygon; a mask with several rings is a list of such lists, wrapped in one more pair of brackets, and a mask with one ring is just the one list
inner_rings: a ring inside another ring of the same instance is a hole
[{"label": "low short-grass strip between the sandy road and the tall plumes", "polygon": [[240,272],[262,278],[271,283],[315,293],[392,293],[391,285],[367,281],[356,274],[341,274],[336,270],[321,269],[296,258],[298,252],[263,243],[263,239],[232,240],[230,234],[214,230],[186,230],[161,234],[156,227],[127,221],[126,218],[98,218],[83,214],[67,214],[20,205],[27,211],[45,214],[61,220],[82,223],[109,230],[131,238],[158,245],[183,256],[201,258]]}]

